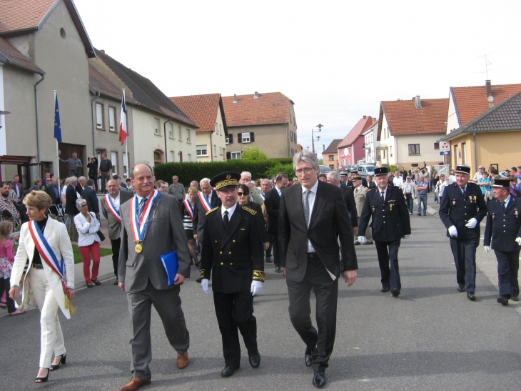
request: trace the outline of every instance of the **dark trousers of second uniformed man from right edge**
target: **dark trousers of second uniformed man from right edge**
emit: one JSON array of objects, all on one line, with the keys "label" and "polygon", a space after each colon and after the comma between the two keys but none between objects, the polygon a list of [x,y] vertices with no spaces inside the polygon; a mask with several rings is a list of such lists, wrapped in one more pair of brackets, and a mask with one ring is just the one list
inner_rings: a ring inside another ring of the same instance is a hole
[{"label": "dark trousers of second uniformed man from right edge", "polygon": [[476,248],[480,239],[450,238],[450,249],[456,264],[458,285],[465,285],[467,292],[474,293],[476,288]]}]

